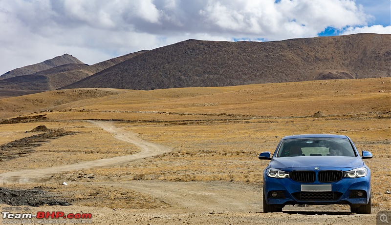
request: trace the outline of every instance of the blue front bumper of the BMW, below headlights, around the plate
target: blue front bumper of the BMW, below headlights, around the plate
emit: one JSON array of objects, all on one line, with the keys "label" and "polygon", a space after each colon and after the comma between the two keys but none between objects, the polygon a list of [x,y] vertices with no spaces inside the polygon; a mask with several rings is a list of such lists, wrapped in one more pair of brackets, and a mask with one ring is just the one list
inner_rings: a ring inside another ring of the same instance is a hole
[{"label": "blue front bumper of the BMW, below headlights, around the plate", "polygon": [[[332,183],[301,183],[291,178],[271,178],[264,174],[263,191],[266,204],[270,205],[363,205],[368,204],[370,196],[370,173],[360,178],[342,178]],[[331,184],[331,191],[301,191],[302,184]],[[363,193],[357,195],[358,191]],[[277,195],[272,196],[275,192]]]}]

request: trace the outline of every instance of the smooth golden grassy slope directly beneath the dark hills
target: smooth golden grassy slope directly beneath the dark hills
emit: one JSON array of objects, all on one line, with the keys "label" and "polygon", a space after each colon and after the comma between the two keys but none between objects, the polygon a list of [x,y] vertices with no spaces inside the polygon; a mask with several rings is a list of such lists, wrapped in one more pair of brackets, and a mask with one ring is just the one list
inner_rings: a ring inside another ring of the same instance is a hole
[{"label": "smooth golden grassy slope directly beneath the dark hills", "polygon": [[390,85],[390,78],[377,78],[151,91],[49,91],[0,99],[0,118],[31,112],[47,114],[52,120],[133,121],[311,116],[317,111],[377,115],[390,111]]}]

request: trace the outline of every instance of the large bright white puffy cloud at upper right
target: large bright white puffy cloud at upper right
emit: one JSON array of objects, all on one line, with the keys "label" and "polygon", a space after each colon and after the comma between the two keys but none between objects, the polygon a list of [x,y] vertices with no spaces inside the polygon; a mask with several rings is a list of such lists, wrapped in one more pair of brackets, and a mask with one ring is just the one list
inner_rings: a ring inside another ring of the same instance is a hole
[{"label": "large bright white puffy cloud at upper right", "polygon": [[366,25],[371,17],[350,0],[209,1],[200,15],[213,30],[266,40],[314,37],[326,27]]}]

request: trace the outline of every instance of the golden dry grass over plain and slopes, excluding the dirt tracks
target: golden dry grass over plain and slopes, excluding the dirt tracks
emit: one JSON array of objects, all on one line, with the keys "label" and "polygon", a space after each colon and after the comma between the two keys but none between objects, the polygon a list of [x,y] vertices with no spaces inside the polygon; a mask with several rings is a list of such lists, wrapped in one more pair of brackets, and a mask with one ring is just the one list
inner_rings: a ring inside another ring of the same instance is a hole
[{"label": "golden dry grass over plain and slopes, excluding the dirt tracks", "polygon": [[[391,208],[390,79],[336,80],[260,84],[222,88],[181,88],[124,91],[63,105],[45,105],[50,121],[0,125],[0,142],[25,137],[37,125],[63,127],[78,132],[34,148],[34,152],[0,164],[0,172],[72,164],[78,161],[132,154],[138,149],[112,134],[79,119],[118,119],[116,126],[140,134],[142,139],[171,147],[162,156],[113,167],[61,174],[61,181],[233,181],[261,184],[268,162],[258,160],[262,151],[274,152],[283,136],[301,133],[348,135],[358,149],[369,150],[366,160],[372,172],[373,205]],[[50,102],[51,92],[46,93]],[[33,95],[42,98],[45,93]],[[65,97],[63,97],[65,98]],[[12,98],[13,101],[24,100]],[[23,97],[23,99],[28,99]],[[0,100],[0,107],[12,108]],[[65,110],[66,109],[66,110]],[[85,109],[84,111],[81,109]],[[312,117],[322,111],[323,117]],[[12,115],[9,110],[1,115]],[[23,114],[18,112],[18,114]],[[35,113],[34,115],[37,115]],[[27,162],[27,163],[26,163]],[[92,175],[93,179],[87,177]],[[55,185],[47,183],[44,185]],[[85,188],[85,190],[82,190]],[[80,192],[78,204],[93,205],[93,198],[121,199],[113,188],[72,187]],[[59,190],[62,190],[60,188]],[[98,193],[99,192],[99,193]],[[91,194],[92,193],[92,194]],[[94,194],[95,193],[95,194]],[[130,193],[130,195],[136,195]],[[115,197],[117,196],[117,197]],[[141,198],[141,197],[140,197]],[[144,197],[143,197],[144,198]],[[147,197],[145,197],[147,198]],[[123,200],[123,203],[127,200]],[[146,202],[141,201],[143,204]],[[117,203],[119,204],[119,203]],[[160,207],[156,203],[156,207]],[[163,204],[164,205],[164,204]],[[155,207],[152,206],[151,207]]]}]

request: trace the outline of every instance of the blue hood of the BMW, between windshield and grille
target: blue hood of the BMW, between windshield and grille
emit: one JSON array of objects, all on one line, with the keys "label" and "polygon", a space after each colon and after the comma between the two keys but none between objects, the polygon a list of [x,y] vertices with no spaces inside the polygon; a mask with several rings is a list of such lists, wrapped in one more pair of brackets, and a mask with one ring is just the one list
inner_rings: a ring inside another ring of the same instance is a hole
[{"label": "blue hood of the BMW, between windshield and grille", "polygon": [[297,167],[344,167],[359,168],[364,165],[361,157],[346,156],[296,156],[272,158],[270,167],[276,169]]}]

